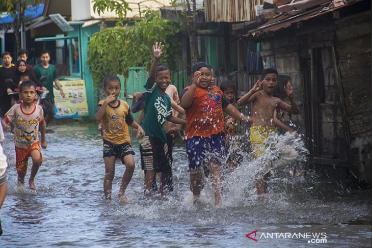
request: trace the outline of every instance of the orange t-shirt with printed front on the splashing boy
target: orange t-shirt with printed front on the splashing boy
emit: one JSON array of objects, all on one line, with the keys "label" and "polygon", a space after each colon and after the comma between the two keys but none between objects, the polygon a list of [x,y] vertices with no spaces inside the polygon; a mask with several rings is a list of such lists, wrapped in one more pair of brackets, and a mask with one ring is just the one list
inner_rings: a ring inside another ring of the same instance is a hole
[{"label": "orange t-shirt with printed front on the splashing boy", "polygon": [[[189,88],[188,86],[185,90]],[[217,86],[210,89],[196,88],[193,103],[185,109],[185,140],[193,136],[208,137],[224,132],[222,97],[223,93]]]}]

